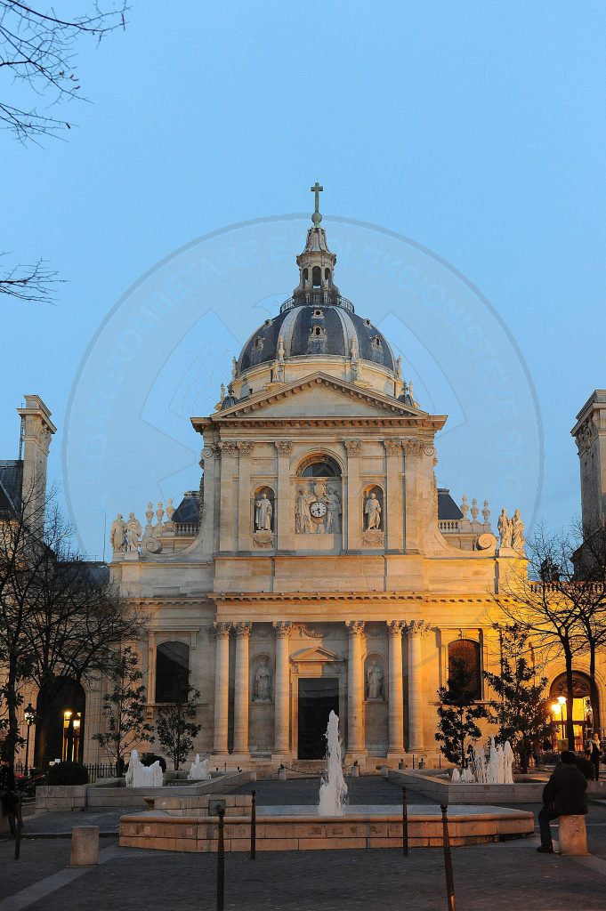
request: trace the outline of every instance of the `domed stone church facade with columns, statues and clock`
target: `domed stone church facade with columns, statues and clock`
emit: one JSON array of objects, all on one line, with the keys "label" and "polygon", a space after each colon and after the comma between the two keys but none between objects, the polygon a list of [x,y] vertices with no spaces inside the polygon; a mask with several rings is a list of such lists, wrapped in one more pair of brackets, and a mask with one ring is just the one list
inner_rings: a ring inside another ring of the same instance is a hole
[{"label": "domed stone church facade with columns, statues and clock", "polygon": [[348,761],[431,762],[454,654],[488,698],[491,593],[523,556],[523,538],[498,550],[487,503],[468,517],[438,489],[447,418],[337,288],[321,220],[316,193],[293,296],[191,418],[200,489],[112,527],[114,577],[150,616],[149,719],[189,680],[195,752],[221,767],[322,757],[331,710]]}]

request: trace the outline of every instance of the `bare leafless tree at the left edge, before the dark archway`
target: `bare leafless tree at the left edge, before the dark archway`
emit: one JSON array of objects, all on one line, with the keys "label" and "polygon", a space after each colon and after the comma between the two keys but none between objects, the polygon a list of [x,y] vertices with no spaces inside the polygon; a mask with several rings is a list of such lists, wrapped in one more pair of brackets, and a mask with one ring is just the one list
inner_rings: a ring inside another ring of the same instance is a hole
[{"label": "bare leafless tree at the left edge, before the dark archway", "polygon": [[13,763],[24,681],[89,680],[110,646],[136,639],[147,617],[131,608],[105,564],[79,558],[71,528],[48,496],[22,497],[0,517],[0,662],[5,666],[4,752]]}]

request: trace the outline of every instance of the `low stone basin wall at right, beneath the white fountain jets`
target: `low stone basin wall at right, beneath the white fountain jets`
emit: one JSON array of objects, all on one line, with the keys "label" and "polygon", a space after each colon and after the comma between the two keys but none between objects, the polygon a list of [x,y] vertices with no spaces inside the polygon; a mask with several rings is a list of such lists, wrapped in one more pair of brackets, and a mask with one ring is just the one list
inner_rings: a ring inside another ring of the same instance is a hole
[{"label": "low stone basin wall at right, beneath the white fountain jets", "polygon": [[424,772],[393,772],[387,778],[440,804],[540,804],[544,781],[515,784],[452,784]]}]

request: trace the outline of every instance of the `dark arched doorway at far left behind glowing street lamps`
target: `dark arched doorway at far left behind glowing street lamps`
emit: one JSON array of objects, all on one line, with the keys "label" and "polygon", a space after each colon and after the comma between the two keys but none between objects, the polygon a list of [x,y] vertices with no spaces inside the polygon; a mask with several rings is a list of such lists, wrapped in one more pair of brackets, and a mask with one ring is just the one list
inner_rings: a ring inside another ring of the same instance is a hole
[{"label": "dark arched doorway at far left behind glowing street lamps", "polygon": [[77,681],[57,677],[38,693],[36,705],[36,765],[82,762],[87,698]]}]

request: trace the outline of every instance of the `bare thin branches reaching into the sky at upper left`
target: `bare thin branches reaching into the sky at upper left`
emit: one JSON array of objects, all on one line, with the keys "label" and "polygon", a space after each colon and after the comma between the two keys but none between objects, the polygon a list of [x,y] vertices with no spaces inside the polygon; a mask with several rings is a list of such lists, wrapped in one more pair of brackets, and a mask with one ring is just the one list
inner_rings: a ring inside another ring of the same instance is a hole
[{"label": "bare thin branches reaching into the sky at upper left", "polygon": [[[68,120],[48,111],[74,98],[87,100],[76,71],[77,42],[89,37],[98,43],[124,28],[127,11],[126,0],[105,4],[98,0],[89,13],[62,18],[53,7],[43,10],[0,0],[0,72],[13,77],[11,96],[0,98],[0,127],[24,144],[39,144],[71,129]],[[42,260],[31,266],[17,264],[0,275],[0,293],[22,301],[49,302],[56,281],[56,272]]]}]

